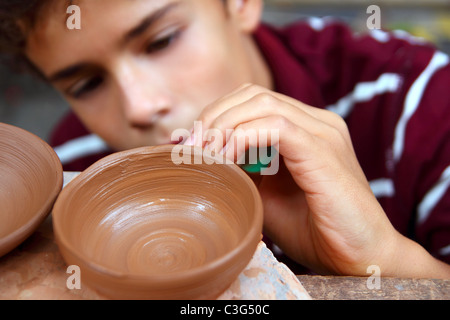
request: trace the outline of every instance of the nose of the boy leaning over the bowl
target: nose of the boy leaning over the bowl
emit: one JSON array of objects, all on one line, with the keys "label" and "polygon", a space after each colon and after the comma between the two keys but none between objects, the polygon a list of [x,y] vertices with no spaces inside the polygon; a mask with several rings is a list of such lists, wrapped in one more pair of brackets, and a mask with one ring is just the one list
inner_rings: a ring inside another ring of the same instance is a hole
[{"label": "nose of the boy leaning over the bowl", "polygon": [[132,127],[147,128],[156,124],[170,110],[170,98],[161,81],[142,68],[128,64],[117,75],[121,105]]}]

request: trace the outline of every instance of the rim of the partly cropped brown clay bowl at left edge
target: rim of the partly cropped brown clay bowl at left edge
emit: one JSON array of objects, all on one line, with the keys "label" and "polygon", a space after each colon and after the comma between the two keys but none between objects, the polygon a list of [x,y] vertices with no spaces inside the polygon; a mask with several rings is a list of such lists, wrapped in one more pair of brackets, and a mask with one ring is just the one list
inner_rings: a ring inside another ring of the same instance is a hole
[{"label": "rim of the partly cropped brown clay bowl at left edge", "polygon": [[[61,161],[55,150],[40,137],[25,129],[7,123],[0,123],[0,130],[4,130],[10,134],[10,136],[8,136],[9,140],[6,141],[9,144],[23,141],[27,146],[38,145],[41,147],[41,151],[44,152],[40,152],[39,156],[42,160],[45,160],[53,165],[54,169],[52,172],[53,188],[51,188],[48,193],[47,200],[43,202],[40,208],[37,209],[33,215],[29,216],[29,219],[24,224],[22,224],[19,228],[14,229],[14,231],[8,233],[6,236],[0,238],[0,252],[6,250],[3,254],[0,254],[0,256],[2,256],[11,252],[23,241],[25,241],[50,214],[52,211],[52,206],[62,189],[64,174]],[[3,138],[2,141],[5,142]],[[35,162],[31,162],[32,161],[30,161],[30,166],[34,166]],[[9,249],[7,249],[8,247]]]}]

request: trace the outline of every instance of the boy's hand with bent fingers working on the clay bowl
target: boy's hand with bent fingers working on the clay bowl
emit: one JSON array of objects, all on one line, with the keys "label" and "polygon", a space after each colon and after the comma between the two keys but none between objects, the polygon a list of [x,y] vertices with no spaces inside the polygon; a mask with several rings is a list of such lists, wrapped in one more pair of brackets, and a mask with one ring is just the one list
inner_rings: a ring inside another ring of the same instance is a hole
[{"label": "boy's hand with bent fingers working on the clay bowl", "polygon": [[[272,144],[281,155],[280,170],[262,176],[258,188],[264,232],[287,255],[322,274],[364,276],[370,265],[395,274],[393,257],[405,239],[373,195],[342,118],[244,85],[206,107],[198,120],[203,132],[214,128],[226,137],[234,129],[224,141],[203,143],[233,161],[245,152],[235,150],[236,132],[279,130]],[[253,144],[245,147],[258,146]]]}]

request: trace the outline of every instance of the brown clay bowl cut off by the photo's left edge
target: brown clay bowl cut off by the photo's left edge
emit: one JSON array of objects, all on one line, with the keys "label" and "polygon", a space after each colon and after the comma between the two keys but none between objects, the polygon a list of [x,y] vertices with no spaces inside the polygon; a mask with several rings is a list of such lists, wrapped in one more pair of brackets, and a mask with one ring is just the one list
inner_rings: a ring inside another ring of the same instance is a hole
[{"label": "brown clay bowl cut off by the photo's left edge", "polygon": [[0,123],[0,256],[37,229],[62,184],[61,162],[46,142]]}]

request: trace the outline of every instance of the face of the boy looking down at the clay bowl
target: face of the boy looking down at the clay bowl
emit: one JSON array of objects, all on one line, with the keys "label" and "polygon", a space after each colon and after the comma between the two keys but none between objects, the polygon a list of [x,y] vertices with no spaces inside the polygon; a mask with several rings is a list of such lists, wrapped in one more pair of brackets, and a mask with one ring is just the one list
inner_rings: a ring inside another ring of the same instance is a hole
[{"label": "face of the boy looking down at the clay bowl", "polygon": [[[245,3],[246,1],[244,1]],[[219,0],[79,0],[81,30],[53,1],[27,55],[111,147],[173,143],[201,110],[245,82],[258,83],[250,28]],[[243,27],[245,25],[245,27]]]}]

